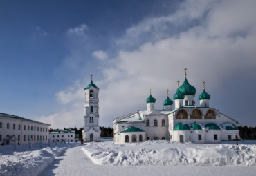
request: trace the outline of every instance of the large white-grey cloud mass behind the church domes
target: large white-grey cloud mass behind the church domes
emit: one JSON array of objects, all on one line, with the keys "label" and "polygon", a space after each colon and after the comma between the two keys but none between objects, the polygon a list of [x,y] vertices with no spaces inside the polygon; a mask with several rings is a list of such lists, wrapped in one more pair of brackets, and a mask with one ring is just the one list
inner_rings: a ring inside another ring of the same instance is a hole
[{"label": "large white-grey cloud mass behind the church domes", "polygon": [[[129,52],[119,50],[118,56],[113,59],[107,59],[103,51],[93,52],[93,57],[107,60],[100,68],[104,79],[95,82],[100,88],[100,125],[112,126],[115,117],[145,110],[149,88],[152,88],[152,95],[156,98],[156,108],[163,108],[166,89],[170,89],[172,97],[176,81],[183,82],[185,67],[188,68],[188,81],[197,90],[195,99],[203,90],[203,81],[210,94],[217,92],[221,97],[226,91],[236,91],[221,88],[231,79],[247,77],[254,80],[256,21],[253,17],[256,17],[256,12],[253,7],[255,1],[185,1],[174,14],[147,18],[127,29],[122,39],[129,44],[149,31],[147,37],[165,34],[170,21],[179,25],[200,19],[197,25],[175,35],[166,35],[165,39],[149,40]],[[74,87],[57,93],[57,97],[64,103],[72,102],[74,106],[44,118],[53,121],[53,124],[62,120],[62,127],[72,120],[81,121],[83,93]],[[212,97],[211,103],[214,101]],[[229,97],[228,101],[239,109],[236,96]]]}]

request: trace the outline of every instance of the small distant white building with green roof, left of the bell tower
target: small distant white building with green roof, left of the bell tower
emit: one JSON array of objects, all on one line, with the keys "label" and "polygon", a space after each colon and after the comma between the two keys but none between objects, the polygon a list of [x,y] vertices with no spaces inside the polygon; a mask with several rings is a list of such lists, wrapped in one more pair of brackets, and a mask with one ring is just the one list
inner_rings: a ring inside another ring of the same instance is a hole
[{"label": "small distant white building with green roof, left of the bell tower", "polygon": [[75,142],[75,132],[74,133],[63,133],[60,131],[60,133],[52,132],[49,134],[50,142],[64,142],[66,139],[66,142],[68,142],[68,139],[70,142]]}]

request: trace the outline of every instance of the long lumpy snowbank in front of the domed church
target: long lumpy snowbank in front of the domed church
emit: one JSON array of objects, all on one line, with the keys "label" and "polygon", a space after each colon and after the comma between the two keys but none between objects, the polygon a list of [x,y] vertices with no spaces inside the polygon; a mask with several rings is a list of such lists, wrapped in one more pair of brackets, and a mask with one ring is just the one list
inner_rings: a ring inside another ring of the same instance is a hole
[{"label": "long lumpy snowbank in front of the domed church", "polygon": [[95,163],[112,166],[140,165],[256,165],[256,145],[181,144],[146,141],[136,144],[91,143],[82,148]]}]

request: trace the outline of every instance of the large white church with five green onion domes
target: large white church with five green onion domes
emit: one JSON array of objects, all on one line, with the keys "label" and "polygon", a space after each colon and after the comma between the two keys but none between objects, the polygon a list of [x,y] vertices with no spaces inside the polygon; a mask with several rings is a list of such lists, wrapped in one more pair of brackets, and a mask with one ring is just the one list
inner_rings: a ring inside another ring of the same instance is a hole
[{"label": "large white church with five green onion domes", "polygon": [[190,85],[185,68],[185,80],[174,94],[163,101],[164,109],[156,110],[156,99],[151,91],[147,98],[147,110],[129,113],[113,121],[114,142],[131,143],[147,140],[171,140],[194,142],[197,144],[220,143],[221,140],[234,140],[239,137],[235,119],[223,115],[210,107],[210,95],[205,91],[199,95],[200,104],[194,104],[196,88]]}]

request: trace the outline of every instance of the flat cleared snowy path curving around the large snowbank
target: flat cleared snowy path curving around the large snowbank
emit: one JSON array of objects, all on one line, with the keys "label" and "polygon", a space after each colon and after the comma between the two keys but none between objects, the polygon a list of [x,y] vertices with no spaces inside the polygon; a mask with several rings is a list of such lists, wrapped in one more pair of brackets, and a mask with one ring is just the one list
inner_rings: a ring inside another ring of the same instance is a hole
[{"label": "flat cleared snowy path curving around the large snowbank", "polygon": [[41,173],[47,175],[255,175],[256,166],[102,166],[95,165],[82,146],[67,149]]}]

